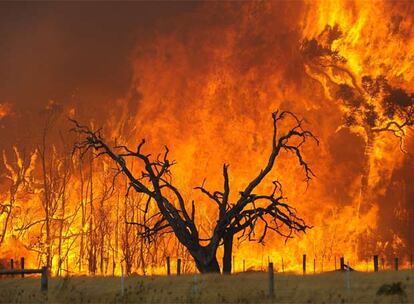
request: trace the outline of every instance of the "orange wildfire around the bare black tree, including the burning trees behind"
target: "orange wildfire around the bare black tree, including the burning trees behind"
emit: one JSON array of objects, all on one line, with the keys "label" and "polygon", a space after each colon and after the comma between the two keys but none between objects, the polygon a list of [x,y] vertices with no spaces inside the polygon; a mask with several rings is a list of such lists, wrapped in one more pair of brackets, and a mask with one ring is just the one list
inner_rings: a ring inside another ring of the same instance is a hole
[{"label": "orange wildfire around the bare black tree, including the burning trees behind", "polygon": [[[221,187],[228,163],[235,197],[267,161],[269,113],[292,110],[320,139],[320,148],[305,148],[317,178],[304,183],[286,154],[263,188],[278,179],[313,229],[286,244],[276,235],[265,246],[236,240],[235,270],[243,261],[259,269],[271,260],[281,271],[283,260],[284,271],[300,271],[303,254],[315,259],[316,271],[339,267],[340,256],[361,270],[373,254],[404,257],[411,240],[383,221],[394,221],[387,204],[404,225],[412,219],[406,190],[402,198],[388,191],[407,161],[402,150],[413,147],[413,11],[411,3],[386,1],[206,3],[136,47],[132,84],[102,132],[129,146],[145,138],[148,153],[170,148],[174,185],[189,204],[196,201],[205,238],[216,213],[194,187]],[[2,180],[0,256],[49,259],[54,274],[165,273],[167,256],[192,271],[173,235],[148,244],[139,227],[126,224],[143,220],[145,200],[125,196],[128,183],[115,179],[109,160],[69,153],[65,135],[53,135],[54,105],[32,153],[14,148],[13,161],[3,153],[9,174]],[[71,117],[78,112],[68,110]],[[0,119],[8,113],[0,104]]]}]

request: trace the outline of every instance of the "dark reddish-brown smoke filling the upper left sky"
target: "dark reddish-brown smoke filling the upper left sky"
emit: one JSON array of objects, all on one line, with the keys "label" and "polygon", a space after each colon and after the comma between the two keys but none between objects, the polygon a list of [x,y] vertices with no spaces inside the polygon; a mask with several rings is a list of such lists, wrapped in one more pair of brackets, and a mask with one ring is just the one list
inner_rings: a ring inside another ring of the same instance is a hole
[{"label": "dark reddish-brown smoke filling the upper left sky", "polygon": [[[6,148],[30,146],[50,100],[85,120],[105,121],[131,82],[130,55],[158,20],[193,3],[0,4],[0,100],[14,109],[0,130]],[[28,130],[33,130],[29,132]]]}]

